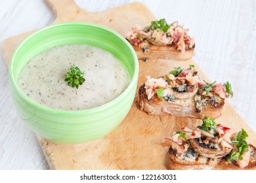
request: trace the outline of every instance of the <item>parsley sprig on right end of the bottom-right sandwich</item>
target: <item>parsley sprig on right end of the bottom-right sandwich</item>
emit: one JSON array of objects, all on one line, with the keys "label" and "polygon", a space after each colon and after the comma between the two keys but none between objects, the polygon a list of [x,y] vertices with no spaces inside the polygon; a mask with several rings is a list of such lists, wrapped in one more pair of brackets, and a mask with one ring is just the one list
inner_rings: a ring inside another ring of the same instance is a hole
[{"label": "parsley sprig on right end of the bottom-right sandwich", "polygon": [[228,159],[232,159],[234,161],[238,161],[238,159],[243,159],[242,154],[249,150],[248,144],[245,141],[246,137],[248,137],[248,134],[244,129],[242,129],[241,131],[236,133],[236,135],[234,135],[234,141],[232,142],[236,144],[236,147],[238,148],[239,152],[232,152],[230,156],[228,156]]}]

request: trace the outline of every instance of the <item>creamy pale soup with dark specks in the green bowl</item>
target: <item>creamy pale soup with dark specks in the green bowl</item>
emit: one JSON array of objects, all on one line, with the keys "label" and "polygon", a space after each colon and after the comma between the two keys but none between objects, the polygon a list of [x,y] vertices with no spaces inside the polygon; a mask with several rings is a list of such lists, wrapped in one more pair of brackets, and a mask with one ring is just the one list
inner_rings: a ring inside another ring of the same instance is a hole
[{"label": "creamy pale soup with dark specks in the green bowl", "polygon": [[[72,88],[64,81],[75,65],[85,82]],[[79,110],[108,103],[130,79],[121,62],[109,52],[88,45],[66,44],[45,50],[22,69],[18,86],[33,101],[51,108]]]}]

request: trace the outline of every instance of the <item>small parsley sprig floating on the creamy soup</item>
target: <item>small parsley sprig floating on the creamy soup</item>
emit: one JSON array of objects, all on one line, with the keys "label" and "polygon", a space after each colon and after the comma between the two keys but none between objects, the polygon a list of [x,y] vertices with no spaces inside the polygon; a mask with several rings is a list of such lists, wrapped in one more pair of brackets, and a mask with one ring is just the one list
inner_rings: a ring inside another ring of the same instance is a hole
[{"label": "small parsley sprig floating on the creamy soup", "polygon": [[85,73],[82,73],[78,67],[73,65],[70,67],[70,72],[66,74],[65,81],[68,82],[69,85],[71,84],[72,88],[78,88],[78,86],[85,81],[85,78],[82,76],[84,74]]}]

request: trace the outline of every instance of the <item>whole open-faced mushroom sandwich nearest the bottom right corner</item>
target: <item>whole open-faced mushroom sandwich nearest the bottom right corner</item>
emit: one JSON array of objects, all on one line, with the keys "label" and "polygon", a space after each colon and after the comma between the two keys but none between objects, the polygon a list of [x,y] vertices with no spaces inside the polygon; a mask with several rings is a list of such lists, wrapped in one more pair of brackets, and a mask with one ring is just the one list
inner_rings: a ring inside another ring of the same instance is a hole
[{"label": "whole open-faced mushroom sandwich nearest the bottom right corner", "polygon": [[205,117],[196,129],[182,127],[165,138],[167,169],[256,169],[256,148],[245,141],[242,129],[236,133]]}]

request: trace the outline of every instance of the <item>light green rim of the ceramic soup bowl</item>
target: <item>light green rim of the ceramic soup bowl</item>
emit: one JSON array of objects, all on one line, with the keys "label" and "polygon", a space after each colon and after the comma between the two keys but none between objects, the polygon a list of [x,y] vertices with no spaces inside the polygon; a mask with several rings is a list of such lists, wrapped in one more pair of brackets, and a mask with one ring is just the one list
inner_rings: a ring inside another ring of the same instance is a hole
[{"label": "light green rim of the ceramic soup bowl", "polygon": [[[28,96],[26,96],[25,93],[23,93],[20,90],[20,88],[18,87],[18,85],[16,83],[16,80],[14,80],[13,69],[12,69],[14,60],[16,58],[16,54],[17,54],[17,52],[19,52],[20,47],[22,47],[22,45],[25,44],[27,40],[33,39],[33,37],[35,35],[38,35],[42,31],[45,31],[45,29],[51,29],[53,27],[58,27],[58,26],[62,26],[62,25],[87,25],[87,26],[89,25],[89,26],[93,26],[93,27],[96,27],[96,28],[99,28],[99,29],[104,29],[105,31],[108,31],[108,32],[114,34],[118,39],[121,39],[121,41],[125,42],[126,46],[131,50],[131,53],[133,54],[133,59],[135,61],[135,71],[134,71],[133,76],[131,77],[131,82],[129,83],[129,86],[125,89],[125,91],[123,91],[123,93],[121,93],[119,96],[117,96],[112,101],[109,101],[108,103],[106,103],[104,105],[100,105],[98,107],[88,108],[88,109],[83,109],[83,110],[61,110],[61,109],[56,109],[56,108],[51,108],[51,107],[47,107],[47,106],[44,106],[44,105],[40,105],[39,103],[33,101]],[[104,110],[104,108],[108,108],[108,107],[114,105],[121,98],[125,97],[125,95],[127,95],[127,93],[131,92],[134,85],[137,88],[137,80],[138,80],[137,76],[138,75],[139,75],[139,62],[138,62],[137,54],[136,54],[135,50],[133,49],[133,46],[131,46],[131,44],[124,37],[119,35],[119,33],[117,33],[116,31],[114,31],[114,30],[112,30],[108,27],[104,27],[102,25],[93,24],[93,23],[89,23],[89,22],[62,22],[62,23],[58,23],[58,24],[48,25],[48,26],[46,26],[42,29],[39,29],[39,30],[35,31],[34,33],[32,33],[31,35],[29,35],[28,37],[26,37],[22,42],[20,42],[20,44],[18,44],[18,46],[16,47],[16,49],[12,53],[12,56],[11,56],[11,59],[10,59],[10,62],[9,62],[9,80],[12,83],[12,86],[14,87],[15,92],[18,92],[18,95],[20,95],[20,97],[22,97],[26,102],[35,106],[35,108],[40,108],[41,110],[47,110],[48,112],[52,112],[52,113],[80,114],[80,113],[85,113],[85,112],[86,113],[91,113],[91,112]]]}]

